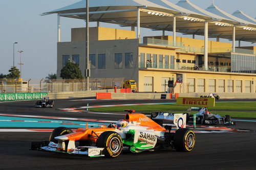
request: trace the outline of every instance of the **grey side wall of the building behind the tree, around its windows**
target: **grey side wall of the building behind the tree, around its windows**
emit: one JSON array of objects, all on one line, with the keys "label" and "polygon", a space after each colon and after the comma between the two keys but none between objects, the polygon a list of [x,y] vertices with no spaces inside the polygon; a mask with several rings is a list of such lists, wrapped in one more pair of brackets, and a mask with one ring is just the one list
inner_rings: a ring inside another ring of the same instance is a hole
[{"label": "grey side wall of the building behind the tree, around its windows", "polygon": [[[84,41],[59,42],[57,45],[57,78],[62,69],[62,55],[79,55],[79,68],[84,76],[86,49]],[[96,69],[91,78],[125,78],[138,80],[138,39],[90,41],[90,54],[96,55]],[[122,53],[122,68],[115,69],[115,53]],[[125,53],[133,53],[133,68],[125,68]],[[98,54],[106,54],[106,68],[98,68]]]}]

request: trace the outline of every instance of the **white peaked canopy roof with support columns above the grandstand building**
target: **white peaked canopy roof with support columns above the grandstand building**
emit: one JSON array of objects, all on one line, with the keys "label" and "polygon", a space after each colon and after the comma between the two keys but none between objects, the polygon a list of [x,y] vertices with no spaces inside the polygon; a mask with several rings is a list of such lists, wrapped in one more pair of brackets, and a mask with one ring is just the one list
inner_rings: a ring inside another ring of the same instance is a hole
[{"label": "white peaked canopy roof with support columns above the grandstand building", "polygon": [[[86,19],[86,2],[78,3],[42,13],[41,15],[58,14],[58,41],[60,16]],[[237,15],[237,14],[235,14]],[[207,70],[208,37],[225,38],[234,41],[256,42],[256,22],[249,17],[238,17],[228,14],[211,5],[206,10],[180,0],[176,5],[170,0],[93,0],[89,1],[89,20],[115,23],[121,26],[137,27],[137,38],[140,38],[140,27],[154,30],[204,35],[205,69]]]}]

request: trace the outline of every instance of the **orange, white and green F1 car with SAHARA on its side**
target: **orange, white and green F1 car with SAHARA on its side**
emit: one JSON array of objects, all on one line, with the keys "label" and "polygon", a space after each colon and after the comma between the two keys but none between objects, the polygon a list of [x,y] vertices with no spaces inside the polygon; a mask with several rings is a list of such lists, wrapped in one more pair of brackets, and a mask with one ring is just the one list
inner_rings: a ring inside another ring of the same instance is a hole
[{"label": "orange, white and green F1 car with SAHARA on its side", "polygon": [[[31,150],[61,152],[90,157],[117,157],[122,150],[131,152],[172,150],[188,152],[195,145],[195,134],[186,128],[186,114],[153,112],[151,118],[144,114],[129,113],[116,125],[100,128],[58,127],[53,130],[49,141],[32,142]],[[155,120],[155,121],[154,121]],[[172,126],[162,127],[163,120],[174,122]],[[156,123],[158,122],[158,123]]]}]

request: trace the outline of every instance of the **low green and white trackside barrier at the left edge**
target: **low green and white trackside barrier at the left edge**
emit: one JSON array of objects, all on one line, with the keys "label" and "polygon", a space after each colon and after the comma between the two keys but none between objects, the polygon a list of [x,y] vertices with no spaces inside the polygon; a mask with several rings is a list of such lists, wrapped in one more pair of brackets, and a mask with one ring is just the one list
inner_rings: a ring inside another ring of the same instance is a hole
[{"label": "low green and white trackside barrier at the left edge", "polygon": [[0,101],[39,100],[47,96],[48,93],[2,93]]}]

